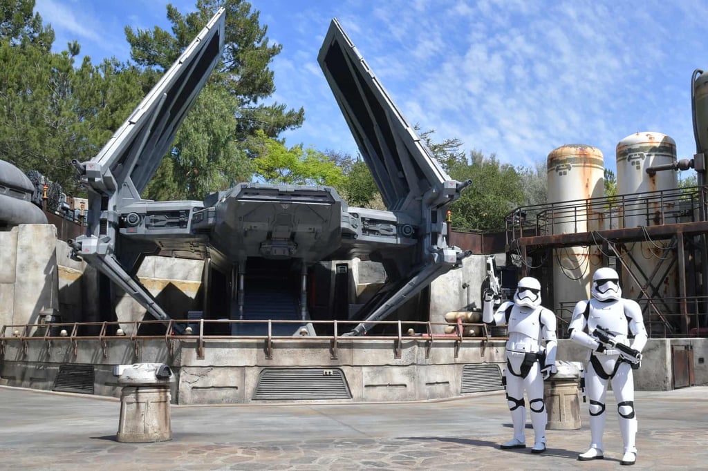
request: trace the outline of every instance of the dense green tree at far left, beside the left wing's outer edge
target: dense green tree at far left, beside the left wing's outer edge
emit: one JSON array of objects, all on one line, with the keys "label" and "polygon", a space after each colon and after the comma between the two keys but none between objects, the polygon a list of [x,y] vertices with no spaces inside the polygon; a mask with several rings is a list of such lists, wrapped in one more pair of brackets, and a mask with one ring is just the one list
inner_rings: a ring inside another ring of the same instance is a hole
[{"label": "dense green tree at far left, beside the left wing's outer edge", "polygon": [[31,15],[33,6],[33,1],[3,3],[0,153],[76,196],[81,189],[72,159],[91,158],[108,141],[142,98],[141,74],[115,59],[93,66],[84,57],[77,65],[76,41],[63,52],[50,52],[54,33],[39,13]]}]

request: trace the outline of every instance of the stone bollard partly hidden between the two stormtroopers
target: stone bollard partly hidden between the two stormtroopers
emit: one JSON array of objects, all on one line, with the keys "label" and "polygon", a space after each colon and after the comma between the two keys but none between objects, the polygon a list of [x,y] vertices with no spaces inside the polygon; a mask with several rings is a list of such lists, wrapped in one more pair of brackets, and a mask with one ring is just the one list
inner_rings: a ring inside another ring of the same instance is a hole
[{"label": "stone bollard partly hidden between the two stormtroopers", "polygon": [[578,397],[582,365],[575,361],[556,361],[558,373],[544,381],[544,402],[549,430],[577,430],[580,422]]}]

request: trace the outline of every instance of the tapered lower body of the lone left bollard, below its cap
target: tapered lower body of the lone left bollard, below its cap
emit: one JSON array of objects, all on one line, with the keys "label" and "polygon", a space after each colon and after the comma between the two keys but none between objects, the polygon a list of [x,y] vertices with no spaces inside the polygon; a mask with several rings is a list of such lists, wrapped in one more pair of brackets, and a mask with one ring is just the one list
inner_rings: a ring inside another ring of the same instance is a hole
[{"label": "tapered lower body of the lone left bollard, below its cap", "polygon": [[172,439],[169,385],[126,386],[120,395],[120,442],[145,443]]}]

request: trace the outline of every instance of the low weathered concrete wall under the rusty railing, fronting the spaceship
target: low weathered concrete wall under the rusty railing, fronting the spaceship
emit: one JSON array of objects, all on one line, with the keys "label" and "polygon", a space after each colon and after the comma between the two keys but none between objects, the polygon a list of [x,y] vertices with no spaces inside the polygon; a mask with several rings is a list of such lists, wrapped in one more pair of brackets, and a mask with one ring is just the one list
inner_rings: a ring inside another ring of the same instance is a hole
[{"label": "low weathered concrete wall under the rusty railing, fronting the spaceship", "polygon": [[[51,390],[62,364],[90,364],[95,394],[120,396],[115,364],[160,362],[176,373],[173,400],[179,404],[248,403],[265,368],[340,368],[351,402],[431,400],[461,395],[467,364],[503,363],[503,342],[406,339],[396,356],[394,341],[340,339],[336,358],[327,340],[277,339],[266,358],[262,340],[207,340],[200,358],[196,340],[127,337],[99,339],[5,339],[0,384]],[[279,401],[293,402],[293,401]],[[297,401],[299,402],[308,402]],[[309,401],[314,402],[314,401]],[[326,401],[316,401],[326,402]]]}]

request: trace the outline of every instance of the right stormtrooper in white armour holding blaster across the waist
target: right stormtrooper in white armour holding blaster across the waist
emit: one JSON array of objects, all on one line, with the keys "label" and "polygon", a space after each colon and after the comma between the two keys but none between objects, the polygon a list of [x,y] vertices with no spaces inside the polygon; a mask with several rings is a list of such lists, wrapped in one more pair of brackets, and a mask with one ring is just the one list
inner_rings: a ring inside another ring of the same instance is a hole
[{"label": "right stormtrooper in white armour holding blaster across the waist", "polygon": [[[624,439],[622,465],[636,462],[636,417],[632,369],[639,367],[646,344],[646,329],[639,304],[622,298],[619,275],[611,268],[600,268],[593,275],[593,298],[579,301],[569,325],[570,338],[588,347],[586,390],[590,400],[590,449],[578,460],[601,460],[605,429],[607,382],[617,400],[619,429]],[[607,339],[610,338],[610,344]],[[627,355],[627,351],[634,356]]]}]

